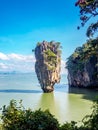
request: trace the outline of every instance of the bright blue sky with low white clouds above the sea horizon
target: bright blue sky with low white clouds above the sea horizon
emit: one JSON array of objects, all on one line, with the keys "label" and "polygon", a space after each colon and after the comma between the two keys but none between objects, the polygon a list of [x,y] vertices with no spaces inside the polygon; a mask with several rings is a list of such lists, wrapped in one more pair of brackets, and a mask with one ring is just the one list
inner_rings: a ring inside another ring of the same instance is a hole
[{"label": "bright blue sky with low white clouds above the sea horizon", "polygon": [[[0,0],[0,71],[34,70],[37,42],[59,41],[62,63],[86,41],[75,0]],[[29,59],[29,60],[28,60]],[[24,68],[23,68],[24,65]]]}]

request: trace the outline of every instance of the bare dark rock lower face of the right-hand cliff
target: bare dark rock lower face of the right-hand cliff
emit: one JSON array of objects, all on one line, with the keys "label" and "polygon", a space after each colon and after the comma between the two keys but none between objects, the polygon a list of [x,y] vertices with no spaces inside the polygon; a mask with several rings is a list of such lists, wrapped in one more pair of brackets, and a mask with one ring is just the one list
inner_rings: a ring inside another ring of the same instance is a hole
[{"label": "bare dark rock lower face of the right-hand cliff", "polygon": [[[98,87],[98,69],[96,67],[97,58],[92,57],[87,63],[85,63],[81,69],[76,72],[74,70],[68,69],[68,81],[69,86],[73,87]],[[77,63],[73,63],[75,67],[78,66]]]}]

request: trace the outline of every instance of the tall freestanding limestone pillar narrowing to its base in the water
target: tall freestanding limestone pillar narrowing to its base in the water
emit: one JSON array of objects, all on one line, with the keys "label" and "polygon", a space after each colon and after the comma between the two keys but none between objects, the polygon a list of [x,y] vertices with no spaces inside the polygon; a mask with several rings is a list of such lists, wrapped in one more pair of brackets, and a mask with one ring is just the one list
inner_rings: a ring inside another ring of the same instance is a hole
[{"label": "tall freestanding limestone pillar narrowing to its base in the water", "polygon": [[60,43],[38,43],[35,48],[35,71],[44,92],[52,92],[55,83],[60,82]]}]

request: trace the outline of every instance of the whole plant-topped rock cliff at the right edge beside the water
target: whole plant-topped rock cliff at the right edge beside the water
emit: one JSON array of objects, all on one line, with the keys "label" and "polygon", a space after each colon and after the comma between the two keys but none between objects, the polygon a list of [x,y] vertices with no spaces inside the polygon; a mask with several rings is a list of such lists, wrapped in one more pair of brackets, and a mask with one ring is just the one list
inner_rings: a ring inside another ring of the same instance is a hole
[{"label": "whole plant-topped rock cliff at the right edge beside the water", "polygon": [[98,88],[98,39],[77,48],[67,68],[69,86]]}]

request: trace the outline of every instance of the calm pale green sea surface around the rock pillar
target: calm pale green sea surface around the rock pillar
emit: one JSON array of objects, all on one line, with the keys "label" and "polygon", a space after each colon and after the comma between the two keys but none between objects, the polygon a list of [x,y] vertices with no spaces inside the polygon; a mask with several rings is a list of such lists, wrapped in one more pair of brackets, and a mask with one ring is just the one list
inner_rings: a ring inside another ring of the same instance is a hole
[{"label": "calm pale green sea surface around the rock pillar", "polygon": [[49,109],[60,123],[80,121],[90,114],[97,94],[92,90],[69,88],[65,75],[53,93],[43,93],[35,74],[0,74],[0,107],[8,105],[11,99],[22,99],[25,108]]}]

